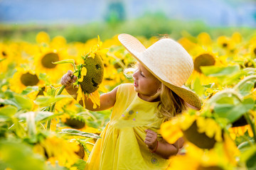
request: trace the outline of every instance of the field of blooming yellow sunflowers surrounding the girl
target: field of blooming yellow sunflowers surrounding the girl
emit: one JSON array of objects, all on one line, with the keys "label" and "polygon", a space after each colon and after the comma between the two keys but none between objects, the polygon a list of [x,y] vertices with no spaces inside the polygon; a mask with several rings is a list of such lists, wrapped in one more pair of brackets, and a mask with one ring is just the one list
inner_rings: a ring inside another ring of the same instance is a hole
[{"label": "field of blooming yellow sunflowers surrounding the girl", "polygon": [[[137,38],[145,47],[158,40]],[[97,106],[100,94],[132,83],[123,71],[136,61],[117,36],[67,42],[40,32],[35,39],[0,42],[0,169],[84,169],[111,109],[92,112],[78,101],[90,97]],[[193,57],[186,86],[203,106],[161,125],[166,141],[186,140],[169,169],[256,169],[256,33],[247,38],[238,32],[214,38],[200,33],[177,41]],[[91,79],[99,89],[78,94],[76,101],[60,79],[79,69],[81,81],[90,74],[81,64],[95,54],[103,62],[100,83]]]}]

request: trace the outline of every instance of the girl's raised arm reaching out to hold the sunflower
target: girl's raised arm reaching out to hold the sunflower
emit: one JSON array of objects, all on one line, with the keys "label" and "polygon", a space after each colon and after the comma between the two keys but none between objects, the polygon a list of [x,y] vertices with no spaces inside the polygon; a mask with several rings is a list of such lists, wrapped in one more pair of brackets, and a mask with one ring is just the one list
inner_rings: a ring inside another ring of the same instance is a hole
[{"label": "girl's raised arm reaching out to hold the sunflower", "polygon": [[[68,73],[64,74],[63,77],[61,78],[60,83],[62,85],[65,86],[66,91],[68,91],[68,94],[70,94],[70,96],[73,96],[73,98],[77,98],[78,94],[78,86],[73,87],[73,83],[75,83],[76,79],[78,79],[78,77],[73,77],[73,79],[71,78],[73,75],[73,72],[71,72],[70,70],[68,70]],[[112,91],[108,92],[107,94],[102,94],[100,96],[100,107],[97,108],[93,108],[93,103],[90,100],[90,98],[87,98],[87,100],[85,100],[85,108],[87,108],[90,111],[103,111],[106,110],[107,108],[111,108],[112,106],[114,106],[114,103],[116,101],[116,94],[117,94],[117,89],[118,86],[116,88],[114,88]],[[79,101],[80,105],[83,106],[82,101]]]}]

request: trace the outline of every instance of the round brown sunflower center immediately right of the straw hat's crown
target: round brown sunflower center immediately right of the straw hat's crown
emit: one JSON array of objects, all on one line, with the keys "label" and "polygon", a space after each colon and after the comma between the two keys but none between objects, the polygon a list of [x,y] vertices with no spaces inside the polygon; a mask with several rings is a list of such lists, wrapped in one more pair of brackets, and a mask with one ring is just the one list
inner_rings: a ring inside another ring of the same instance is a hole
[{"label": "round brown sunflower center immediately right of the straw hat's crown", "polygon": [[203,54],[196,57],[194,60],[194,69],[196,69],[197,72],[202,73],[201,66],[211,66],[215,64],[215,59],[212,55],[209,54]]}]

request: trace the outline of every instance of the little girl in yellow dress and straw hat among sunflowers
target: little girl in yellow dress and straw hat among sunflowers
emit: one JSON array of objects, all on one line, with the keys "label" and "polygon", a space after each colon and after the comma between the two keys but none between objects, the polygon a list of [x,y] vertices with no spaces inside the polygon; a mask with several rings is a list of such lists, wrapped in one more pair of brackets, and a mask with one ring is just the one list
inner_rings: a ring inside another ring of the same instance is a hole
[{"label": "little girl in yellow dress and straw hat among sunflowers", "polygon": [[[90,99],[85,106],[90,111],[112,108],[110,122],[90,153],[85,169],[127,170],[166,169],[169,157],[183,146],[180,138],[174,144],[158,134],[161,123],[170,120],[188,106],[200,109],[201,103],[185,84],[193,71],[188,52],[169,38],[145,48],[132,35],[121,34],[119,41],[139,61],[134,72],[134,84],[121,84],[100,96],[100,107],[92,108]],[[76,98],[73,88],[77,77],[68,71],[61,84]],[[80,101],[82,105],[82,101]]]}]

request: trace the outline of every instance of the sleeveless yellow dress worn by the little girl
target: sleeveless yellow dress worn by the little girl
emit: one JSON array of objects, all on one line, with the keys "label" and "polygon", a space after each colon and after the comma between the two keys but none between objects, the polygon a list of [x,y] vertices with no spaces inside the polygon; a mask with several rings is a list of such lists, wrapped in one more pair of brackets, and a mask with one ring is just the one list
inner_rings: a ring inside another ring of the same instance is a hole
[{"label": "sleeveless yellow dress worn by the little girl", "polygon": [[[121,84],[110,122],[95,143],[85,169],[166,169],[169,160],[149,152],[144,143],[145,130],[158,132],[163,123],[155,114],[158,103],[139,98],[133,84]],[[162,140],[161,135],[158,140]]]}]

